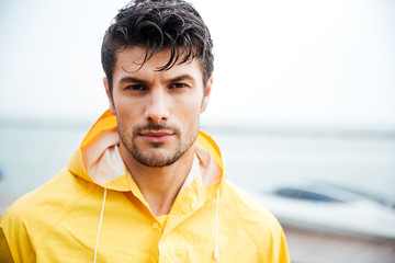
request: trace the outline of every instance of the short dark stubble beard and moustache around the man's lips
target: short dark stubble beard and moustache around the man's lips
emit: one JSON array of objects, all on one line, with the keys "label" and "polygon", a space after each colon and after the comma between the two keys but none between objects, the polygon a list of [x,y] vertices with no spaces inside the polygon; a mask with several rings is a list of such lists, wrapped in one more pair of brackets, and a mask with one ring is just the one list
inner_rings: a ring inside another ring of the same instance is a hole
[{"label": "short dark stubble beard and moustache around the man's lips", "polygon": [[[119,124],[120,125],[120,124]],[[177,146],[173,149],[161,149],[161,147],[166,142],[150,142],[150,150],[143,151],[138,148],[136,144],[136,139],[139,136],[139,133],[145,129],[153,130],[172,130],[176,136]],[[168,125],[154,125],[148,124],[145,126],[135,126],[132,129],[132,135],[127,135],[123,129],[120,129],[119,134],[121,142],[127,149],[127,151],[132,155],[132,157],[140,164],[149,168],[163,168],[173,164],[178,161],[194,144],[198,133],[199,133],[199,119],[196,124],[192,128],[192,130],[188,130],[182,133],[179,128]],[[154,149],[154,150],[153,150]]]}]

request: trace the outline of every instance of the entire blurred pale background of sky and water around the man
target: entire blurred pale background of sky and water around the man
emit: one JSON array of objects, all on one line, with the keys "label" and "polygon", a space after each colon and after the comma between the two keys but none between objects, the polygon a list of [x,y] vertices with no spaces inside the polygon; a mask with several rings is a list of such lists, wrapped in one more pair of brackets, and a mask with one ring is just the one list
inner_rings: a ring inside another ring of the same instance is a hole
[{"label": "entire blurred pale background of sky and water around the man", "polygon": [[[215,45],[202,129],[292,261],[393,262],[395,2],[190,2]],[[0,1],[0,214],[108,108],[100,46],[126,3]]]}]

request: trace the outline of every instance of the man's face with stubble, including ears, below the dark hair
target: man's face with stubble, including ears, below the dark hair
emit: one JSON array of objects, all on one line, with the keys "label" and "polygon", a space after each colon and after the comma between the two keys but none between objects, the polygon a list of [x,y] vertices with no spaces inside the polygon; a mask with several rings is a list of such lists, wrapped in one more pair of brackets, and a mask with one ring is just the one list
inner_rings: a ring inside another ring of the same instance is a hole
[{"label": "man's face with stubble, including ears, below the dark hair", "polygon": [[127,150],[146,167],[161,168],[191,149],[200,113],[207,106],[212,79],[203,83],[196,59],[158,71],[169,61],[168,49],[140,68],[145,54],[140,47],[117,53],[112,100],[106,80],[104,84],[110,108],[117,117],[121,152]]}]

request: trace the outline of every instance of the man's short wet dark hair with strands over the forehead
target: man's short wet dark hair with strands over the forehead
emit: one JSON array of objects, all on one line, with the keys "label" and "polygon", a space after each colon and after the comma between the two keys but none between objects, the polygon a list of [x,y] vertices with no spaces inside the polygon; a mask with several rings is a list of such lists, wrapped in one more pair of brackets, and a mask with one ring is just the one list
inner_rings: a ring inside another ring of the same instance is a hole
[{"label": "man's short wet dark hair with strands over the forehead", "polygon": [[146,48],[144,66],[156,53],[168,48],[169,61],[158,70],[176,64],[200,59],[203,83],[214,70],[213,42],[198,11],[182,0],[135,0],[121,9],[105,32],[101,48],[103,70],[113,87],[116,53],[128,46]]}]

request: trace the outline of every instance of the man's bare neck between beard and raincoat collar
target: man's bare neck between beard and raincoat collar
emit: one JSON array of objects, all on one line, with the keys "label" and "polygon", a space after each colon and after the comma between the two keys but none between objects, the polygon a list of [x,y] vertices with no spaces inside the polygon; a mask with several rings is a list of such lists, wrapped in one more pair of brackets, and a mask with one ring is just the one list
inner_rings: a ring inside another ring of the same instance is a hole
[{"label": "man's bare neck between beard and raincoat collar", "polygon": [[120,153],[154,216],[168,215],[191,170],[194,147],[190,147],[173,164],[163,168],[137,162],[122,144]]}]

